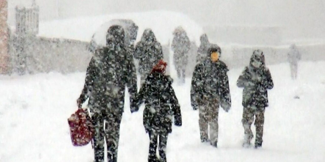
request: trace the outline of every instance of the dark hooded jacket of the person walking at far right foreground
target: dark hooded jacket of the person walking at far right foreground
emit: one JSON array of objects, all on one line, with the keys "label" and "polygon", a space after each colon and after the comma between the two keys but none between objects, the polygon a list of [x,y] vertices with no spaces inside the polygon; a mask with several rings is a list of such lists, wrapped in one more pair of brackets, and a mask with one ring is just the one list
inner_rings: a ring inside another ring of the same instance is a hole
[{"label": "dark hooded jacket of the person walking at far right foreground", "polygon": [[[259,67],[253,66],[254,60],[262,61]],[[258,52],[252,55],[250,65],[245,67],[237,80],[237,86],[243,87],[242,105],[256,106],[259,109],[268,106],[267,89],[273,88],[270,71],[265,67],[264,55]]]}]

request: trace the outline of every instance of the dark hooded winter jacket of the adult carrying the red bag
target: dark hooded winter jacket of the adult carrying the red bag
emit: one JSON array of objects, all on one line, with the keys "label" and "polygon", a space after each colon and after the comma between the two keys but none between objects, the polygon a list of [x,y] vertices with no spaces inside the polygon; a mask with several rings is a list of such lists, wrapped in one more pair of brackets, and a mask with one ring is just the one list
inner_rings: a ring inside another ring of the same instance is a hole
[{"label": "dark hooded winter jacket of the adult carrying the red bag", "polygon": [[[114,28],[115,27],[115,28]],[[107,46],[96,50],[87,67],[81,102],[89,98],[93,113],[122,115],[124,90],[128,88],[131,103],[136,95],[136,71],[131,53],[124,48],[124,32],[120,26],[108,31]]]}]

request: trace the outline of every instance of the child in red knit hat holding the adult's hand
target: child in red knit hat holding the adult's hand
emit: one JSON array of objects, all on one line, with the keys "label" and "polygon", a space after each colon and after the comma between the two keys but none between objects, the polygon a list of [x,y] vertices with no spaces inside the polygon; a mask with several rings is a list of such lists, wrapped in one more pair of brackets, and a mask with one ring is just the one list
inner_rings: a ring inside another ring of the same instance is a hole
[{"label": "child in red knit hat holding the adult's hand", "polygon": [[[166,162],[167,137],[172,132],[172,117],[174,116],[176,126],[182,125],[181,110],[172,87],[172,79],[165,75],[166,65],[160,60],[153,67],[136,97],[137,110],[141,103],[146,104],[143,125],[150,139],[148,162]],[[157,146],[161,159],[157,157]]]}]

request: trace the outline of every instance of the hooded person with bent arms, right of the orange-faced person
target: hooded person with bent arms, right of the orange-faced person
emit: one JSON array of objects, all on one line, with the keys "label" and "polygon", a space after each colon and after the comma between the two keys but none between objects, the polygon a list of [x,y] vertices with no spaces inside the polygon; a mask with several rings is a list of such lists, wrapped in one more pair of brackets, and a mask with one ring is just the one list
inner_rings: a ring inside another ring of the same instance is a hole
[{"label": "hooded person with bent arms, right of the orange-faced person", "polygon": [[255,50],[250,60],[249,66],[245,67],[237,80],[237,86],[243,90],[243,117],[244,127],[243,146],[251,145],[253,132],[251,125],[254,121],[256,126],[255,148],[262,146],[264,111],[268,106],[267,89],[273,88],[273,81],[270,71],[265,67],[264,54],[260,50]]}]

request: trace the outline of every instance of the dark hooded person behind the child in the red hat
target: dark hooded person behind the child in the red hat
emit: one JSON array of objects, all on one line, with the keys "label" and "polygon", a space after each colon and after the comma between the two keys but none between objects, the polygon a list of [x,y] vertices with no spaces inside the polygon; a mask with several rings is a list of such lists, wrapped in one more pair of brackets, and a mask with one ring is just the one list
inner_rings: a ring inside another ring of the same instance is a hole
[{"label": "dark hooded person behind the child in the red hat", "polygon": [[151,29],[143,32],[141,41],[136,44],[134,57],[139,60],[139,73],[141,75],[141,84],[149,75],[151,68],[163,58],[162,46],[156,40]]}]

